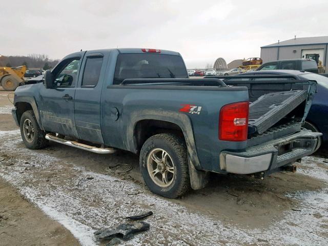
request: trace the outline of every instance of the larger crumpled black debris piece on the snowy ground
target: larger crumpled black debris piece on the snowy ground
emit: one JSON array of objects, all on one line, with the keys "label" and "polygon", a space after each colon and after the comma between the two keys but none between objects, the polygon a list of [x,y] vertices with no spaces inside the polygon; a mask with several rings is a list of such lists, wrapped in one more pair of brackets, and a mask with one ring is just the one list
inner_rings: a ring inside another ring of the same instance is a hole
[{"label": "larger crumpled black debris piece on the snowy ground", "polygon": [[134,237],[134,233],[149,230],[149,223],[138,221],[133,223],[123,223],[116,228],[108,228],[94,232],[95,238],[111,240],[115,237],[122,237],[124,241]]}]

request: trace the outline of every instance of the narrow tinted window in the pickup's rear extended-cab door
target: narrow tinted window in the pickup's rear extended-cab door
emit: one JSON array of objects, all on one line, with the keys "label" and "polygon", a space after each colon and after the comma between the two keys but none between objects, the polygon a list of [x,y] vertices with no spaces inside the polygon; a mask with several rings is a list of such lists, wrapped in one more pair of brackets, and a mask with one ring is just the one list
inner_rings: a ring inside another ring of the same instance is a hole
[{"label": "narrow tinted window in the pickup's rear extended-cab door", "polygon": [[98,84],[103,57],[89,57],[83,72],[81,87],[95,87]]}]

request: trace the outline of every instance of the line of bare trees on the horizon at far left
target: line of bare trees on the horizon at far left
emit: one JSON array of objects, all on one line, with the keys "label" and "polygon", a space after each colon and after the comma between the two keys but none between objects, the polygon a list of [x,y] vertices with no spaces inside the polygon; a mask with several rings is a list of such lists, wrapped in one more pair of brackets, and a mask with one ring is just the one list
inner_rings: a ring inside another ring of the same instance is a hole
[{"label": "line of bare trees on the horizon at far left", "polygon": [[45,54],[29,54],[28,56],[1,56],[0,66],[19,67],[25,65],[27,68],[51,69],[59,60],[49,59]]}]

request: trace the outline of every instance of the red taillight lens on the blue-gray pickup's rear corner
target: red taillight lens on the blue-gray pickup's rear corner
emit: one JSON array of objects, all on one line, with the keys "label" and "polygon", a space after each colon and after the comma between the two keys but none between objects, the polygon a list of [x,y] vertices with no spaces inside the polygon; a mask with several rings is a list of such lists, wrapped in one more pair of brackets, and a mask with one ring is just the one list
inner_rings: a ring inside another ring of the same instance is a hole
[{"label": "red taillight lens on the blue-gray pickup's rear corner", "polygon": [[219,139],[245,141],[248,133],[249,102],[224,105],[220,110]]}]

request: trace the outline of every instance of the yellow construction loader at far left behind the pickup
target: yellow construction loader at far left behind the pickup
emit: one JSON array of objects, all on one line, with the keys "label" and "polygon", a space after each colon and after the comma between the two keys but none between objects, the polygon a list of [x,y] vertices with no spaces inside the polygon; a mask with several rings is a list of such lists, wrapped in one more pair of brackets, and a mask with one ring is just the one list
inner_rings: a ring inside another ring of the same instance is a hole
[{"label": "yellow construction loader at far left behind the pickup", "polygon": [[0,85],[6,91],[14,91],[23,82],[26,66],[15,68],[0,67]]}]

